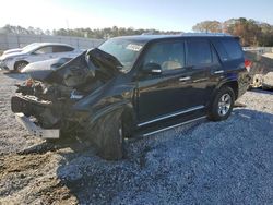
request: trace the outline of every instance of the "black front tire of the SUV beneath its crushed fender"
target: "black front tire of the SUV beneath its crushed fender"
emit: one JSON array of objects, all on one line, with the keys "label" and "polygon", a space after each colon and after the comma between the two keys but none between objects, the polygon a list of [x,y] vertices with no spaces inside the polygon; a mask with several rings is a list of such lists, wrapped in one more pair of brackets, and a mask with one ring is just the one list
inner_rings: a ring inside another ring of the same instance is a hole
[{"label": "black front tire of the SUV beneath its crushed fender", "polygon": [[106,160],[123,158],[124,133],[120,111],[108,113],[85,132],[87,138],[96,146],[99,157]]}]

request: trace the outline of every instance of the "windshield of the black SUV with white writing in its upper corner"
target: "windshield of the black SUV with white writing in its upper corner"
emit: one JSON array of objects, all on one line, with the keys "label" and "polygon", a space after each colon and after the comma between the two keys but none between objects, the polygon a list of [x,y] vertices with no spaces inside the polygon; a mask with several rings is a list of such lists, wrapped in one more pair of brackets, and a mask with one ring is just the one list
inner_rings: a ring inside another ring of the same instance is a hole
[{"label": "windshield of the black SUV with white writing in its upper corner", "polygon": [[123,65],[121,71],[128,72],[132,69],[143,45],[139,41],[114,38],[105,41],[98,48],[116,57]]}]

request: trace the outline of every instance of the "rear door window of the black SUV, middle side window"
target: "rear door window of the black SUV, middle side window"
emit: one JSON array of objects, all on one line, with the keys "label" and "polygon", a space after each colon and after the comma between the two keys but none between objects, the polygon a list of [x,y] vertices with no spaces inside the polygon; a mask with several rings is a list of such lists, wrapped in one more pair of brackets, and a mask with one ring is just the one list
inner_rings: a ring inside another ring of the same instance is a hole
[{"label": "rear door window of the black SUV, middle side window", "polygon": [[188,65],[212,63],[211,45],[205,39],[187,40]]}]

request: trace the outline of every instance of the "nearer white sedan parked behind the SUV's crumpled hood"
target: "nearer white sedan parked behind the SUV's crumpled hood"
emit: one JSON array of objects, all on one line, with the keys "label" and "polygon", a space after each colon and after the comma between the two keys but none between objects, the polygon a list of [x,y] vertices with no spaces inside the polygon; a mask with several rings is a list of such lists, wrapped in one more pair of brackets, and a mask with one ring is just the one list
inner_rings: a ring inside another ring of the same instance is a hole
[{"label": "nearer white sedan parked behind the SUV's crumpled hood", "polygon": [[21,72],[32,62],[56,58],[75,58],[82,50],[67,44],[59,43],[34,43],[24,48],[3,52],[0,57],[0,68],[9,71]]}]

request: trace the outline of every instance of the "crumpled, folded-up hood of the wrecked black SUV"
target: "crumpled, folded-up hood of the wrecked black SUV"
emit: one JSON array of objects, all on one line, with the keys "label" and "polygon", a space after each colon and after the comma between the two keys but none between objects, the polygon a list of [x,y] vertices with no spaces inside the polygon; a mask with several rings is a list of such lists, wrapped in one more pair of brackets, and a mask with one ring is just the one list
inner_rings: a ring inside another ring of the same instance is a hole
[{"label": "crumpled, folded-up hood of the wrecked black SUV", "polygon": [[120,73],[120,67],[121,63],[114,56],[94,48],[71,60],[62,58],[31,63],[22,72],[37,81],[78,87],[94,77],[112,79]]}]

